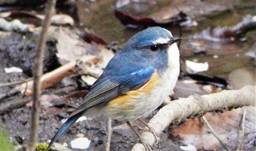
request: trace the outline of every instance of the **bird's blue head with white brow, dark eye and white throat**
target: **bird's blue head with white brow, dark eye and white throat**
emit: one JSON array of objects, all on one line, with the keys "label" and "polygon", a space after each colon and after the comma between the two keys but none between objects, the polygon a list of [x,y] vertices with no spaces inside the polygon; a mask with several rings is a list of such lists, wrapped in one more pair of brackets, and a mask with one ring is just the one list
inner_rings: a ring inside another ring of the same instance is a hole
[{"label": "bird's blue head with white brow, dark eye and white throat", "polygon": [[124,45],[122,51],[133,53],[136,57],[143,58],[147,64],[152,64],[159,70],[167,66],[179,66],[179,52],[175,38],[165,28],[151,27],[132,36]]}]

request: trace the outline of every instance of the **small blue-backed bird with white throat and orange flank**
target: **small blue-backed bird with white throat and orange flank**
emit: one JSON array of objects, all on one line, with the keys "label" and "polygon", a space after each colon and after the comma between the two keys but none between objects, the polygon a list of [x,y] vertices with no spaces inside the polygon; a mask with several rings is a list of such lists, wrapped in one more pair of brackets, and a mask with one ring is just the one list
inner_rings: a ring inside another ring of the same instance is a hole
[{"label": "small blue-backed bird with white throat and orange flank", "polygon": [[48,149],[88,109],[99,109],[124,122],[150,115],[176,85],[180,71],[176,42],[180,40],[161,27],[146,28],[132,36],[61,125]]}]

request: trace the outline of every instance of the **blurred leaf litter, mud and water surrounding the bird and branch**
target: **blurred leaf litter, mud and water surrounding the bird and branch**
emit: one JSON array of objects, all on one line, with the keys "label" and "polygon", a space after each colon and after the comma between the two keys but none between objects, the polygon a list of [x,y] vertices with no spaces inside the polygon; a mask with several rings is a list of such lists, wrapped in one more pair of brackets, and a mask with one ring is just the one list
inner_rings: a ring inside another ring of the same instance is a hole
[{"label": "blurred leaf litter, mud and water surrounding the bird and branch", "polygon": [[[45,3],[46,0],[0,1],[0,139],[11,138],[11,144],[3,140],[7,150],[23,150],[28,142],[31,96],[17,87],[32,76]],[[173,36],[183,38],[179,44],[181,74],[170,98],[255,85],[254,0],[58,0],[48,30],[44,72],[82,56],[92,57],[92,61],[81,67],[82,73],[75,71],[43,90],[39,142],[46,143],[53,136],[61,120],[83,99],[83,90],[89,90],[97,79],[83,73],[83,69],[101,74],[127,39],[149,26],[162,26]],[[242,136],[239,125],[245,111]],[[255,115],[255,107],[243,107],[208,113],[206,117],[230,150],[255,150]],[[85,117],[59,143],[72,150],[104,150],[106,117],[93,113]],[[181,123],[170,125],[162,134],[160,150],[224,150],[200,118]],[[72,146],[78,138],[85,138],[86,143],[82,144],[87,146]],[[130,150],[137,142],[127,125],[116,121],[112,139],[111,150]],[[192,148],[184,149],[187,145]],[[1,143],[0,148],[4,148]]]}]

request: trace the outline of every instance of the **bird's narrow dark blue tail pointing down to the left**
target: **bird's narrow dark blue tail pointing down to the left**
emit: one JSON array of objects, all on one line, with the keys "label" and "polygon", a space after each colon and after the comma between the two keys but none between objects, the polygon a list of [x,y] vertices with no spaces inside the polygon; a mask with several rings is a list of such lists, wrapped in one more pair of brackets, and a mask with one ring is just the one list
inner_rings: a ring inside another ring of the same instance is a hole
[{"label": "bird's narrow dark blue tail pointing down to the left", "polygon": [[48,148],[46,149],[46,151],[48,151],[50,149],[50,147],[53,145],[53,143],[56,142],[67,131],[67,129],[70,126],[72,126],[75,123],[75,121],[78,120],[78,118],[80,116],[83,115],[83,113],[84,112],[79,112],[78,114],[67,118],[67,120],[61,125],[61,128],[59,128],[59,131],[57,131],[55,136],[53,136],[53,139],[50,140],[50,144],[49,144]]}]

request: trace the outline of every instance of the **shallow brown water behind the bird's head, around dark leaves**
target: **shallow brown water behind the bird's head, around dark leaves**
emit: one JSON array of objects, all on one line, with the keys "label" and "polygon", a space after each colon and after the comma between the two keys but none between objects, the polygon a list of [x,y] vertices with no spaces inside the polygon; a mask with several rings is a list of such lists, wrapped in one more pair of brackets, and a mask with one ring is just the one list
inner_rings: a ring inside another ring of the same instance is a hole
[{"label": "shallow brown water behind the bird's head, around dark leaves", "polygon": [[[120,4],[124,3],[116,4],[114,0],[80,1],[78,3],[79,18],[83,26],[94,31],[107,42],[115,41],[119,42],[119,44],[124,44],[130,36],[139,30],[127,29],[119,22],[113,14],[113,9],[116,5],[118,5],[118,9],[129,12],[137,17],[148,16],[156,18],[158,16],[157,20],[166,18],[169,12],[175,14],[178,13],[178,9],[184,10],[189,16],[192,16],[193,20],[197,21],[197,26],[183,28],[182,37],[184,40],[180,47],[181,58],[190,61],[208,62],[210,69],[201,74],[227,77],[230,71],[234,69],[246,68],[252,72],[255,70],[253,58],[249,58],[245,53],[255,50],[253,44],[256,42],[256,31],[246,34],[246,42],[230,42],[227,44],[193,38],[195,34],[210,26],[235,26],[241,22],[244,16],[255,15],[255,4],[251,0],[242,2],[222,1],[222,4],[214,4],[211,1],[203,9],[189,8],[190,4],[187,1],[176,1],[172,4],[167,0],[140,3],[133,1],[123,7],[120,7]],[[190,1],[190,3],[192,2]],[[231,4],[233,3],[234,5],[232,6]],[[168,10],[167,8],[172,9]],[[211,9],[216,9],[216,11]],[[166,13],[163,10],[166,10]],[[168,29],[172,31],[174,36],[179,35],[176,27]],[[203,51],[207,52],[207,55],[192,55],[192,52],[197,49],[203,49]]]}]

